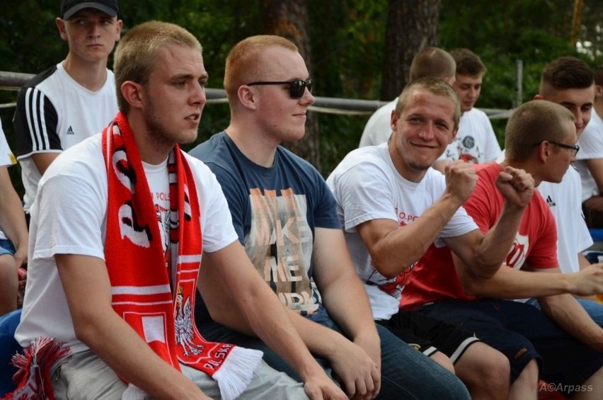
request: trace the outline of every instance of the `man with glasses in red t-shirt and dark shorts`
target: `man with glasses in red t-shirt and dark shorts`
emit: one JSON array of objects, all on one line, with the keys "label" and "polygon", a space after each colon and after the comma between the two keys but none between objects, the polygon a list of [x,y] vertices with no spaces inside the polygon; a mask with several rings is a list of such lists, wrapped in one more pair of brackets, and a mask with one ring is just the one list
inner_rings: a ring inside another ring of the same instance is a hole
[{"label": "man with glasses in red t-shirt and dark shorts", "polygon": [[[574,116],[551,101],[529,101],[507,122],[505,159],[475,166],[476,189],[466,212],[482,232],[501,217],[503,199],[495,177],[505,166],[530,173],[534,183],[559,183],[575,161]],[[559,146],[555,143],[565,145]],[[570,295],[603,290],[603,265],[578,274],[562,274],[556,254],[553,215],[534,193],[519,225],[506,265],[484,279],[452,258],[446,247],[432,247],[413,269],[402,306],[435,319],[472,329],[482,341],[507,355],[514,384],[510,398],[533,398],[539,377],[565,394],[570,387],[590,387],[585,398],[603,396],[603,330]],[[438,273],[432,273],[434,265]],[[512,299],[538,297],[542,312]],[[594,350],[593,350],[594,349]],[[574,385],[574,386],[572,386]]]}]

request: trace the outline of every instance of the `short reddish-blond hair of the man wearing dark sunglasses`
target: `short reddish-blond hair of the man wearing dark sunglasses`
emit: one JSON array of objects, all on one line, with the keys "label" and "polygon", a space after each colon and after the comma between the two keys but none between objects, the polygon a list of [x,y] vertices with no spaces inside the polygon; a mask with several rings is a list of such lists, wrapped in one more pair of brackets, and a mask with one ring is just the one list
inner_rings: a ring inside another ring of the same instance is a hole
[{"label": "short reddish-blond hair of the man wearing dark sunglasses", "polygon": [[224,89],[231,105],[236,101],[236,93],[241,85],[261,79],[263,65],[260,59],[263,51],[272,46],[298,51],[292,41],[276,35],[251,36],[241,40],[230,50],[224,69]]}]

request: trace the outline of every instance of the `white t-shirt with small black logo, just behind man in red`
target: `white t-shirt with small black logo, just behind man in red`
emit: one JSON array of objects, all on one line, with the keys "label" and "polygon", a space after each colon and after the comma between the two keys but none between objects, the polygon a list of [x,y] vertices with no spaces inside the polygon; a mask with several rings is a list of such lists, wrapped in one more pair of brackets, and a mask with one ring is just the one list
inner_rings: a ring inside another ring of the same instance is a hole
[{"label": "white t-shirt with small black logo, just behind man in red", "polygon": [[557,259],[563,273],[578,272],[578,253],[592,246],[592,237],[582,214],[580,186],[580,174],[572,166],[561,183],[541,182],[538,186],[555,217]]}]

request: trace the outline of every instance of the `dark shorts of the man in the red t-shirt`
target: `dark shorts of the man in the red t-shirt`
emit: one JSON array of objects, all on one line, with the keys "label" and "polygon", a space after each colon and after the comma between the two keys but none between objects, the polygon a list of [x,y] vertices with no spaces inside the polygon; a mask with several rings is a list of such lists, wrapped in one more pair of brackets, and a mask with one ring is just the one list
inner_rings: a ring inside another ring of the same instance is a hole
[{"label": "dark shorts of the man in the red t-shirt", "polygon": [[603,353],[577,341],[536,307],[500,299],[446,300],[419,307],[416,312],[458,324],[505,354],[512,382],[531,360],[541,378],[575,387],[603,367]]}]

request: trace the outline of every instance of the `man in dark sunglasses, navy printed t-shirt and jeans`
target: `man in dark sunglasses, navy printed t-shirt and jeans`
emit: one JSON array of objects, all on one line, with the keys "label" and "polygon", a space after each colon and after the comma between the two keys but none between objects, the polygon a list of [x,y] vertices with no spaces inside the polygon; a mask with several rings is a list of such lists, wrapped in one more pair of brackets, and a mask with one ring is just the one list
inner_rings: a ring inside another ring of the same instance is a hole
[{"label": "man in dark sunglasses, navy printed t-shirt and jeans", "polygon": [[[304,136],[314,103],[297,46],[272,35],[242,40],[226,58],[224,88],[230,125],[190,154],[216,174],[239,241],[309,350],[350,397],[468,398],[452,372],[374,324],[331,191],[316,168],[280,146]],[[299,379],[264,343],[244,334],[248,324],[232,304],[237,294],[224,291],[212,268],[202,268],[201,276],[212,293],[204,295],[206,308],[195,310],[204,337],[259,348],[270,366]]]}]

